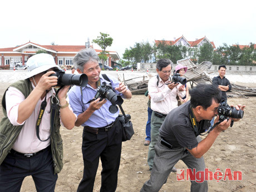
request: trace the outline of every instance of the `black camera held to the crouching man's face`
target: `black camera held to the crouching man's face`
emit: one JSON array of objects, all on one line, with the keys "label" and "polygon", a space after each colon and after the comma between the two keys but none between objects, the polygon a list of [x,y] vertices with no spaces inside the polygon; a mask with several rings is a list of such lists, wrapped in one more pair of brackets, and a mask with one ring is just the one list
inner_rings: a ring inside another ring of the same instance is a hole
[{"label": "black camera held to the crouching man's face", "polygon": [[235,107],[230,107],[226,101],[222,101],[218,107],[219,121],[222,122],[229,117],[234,119],[242,119],[244,116],[244,111],[237,110]]}]

